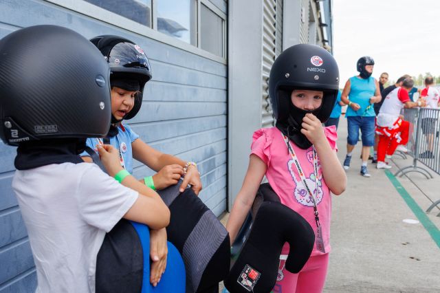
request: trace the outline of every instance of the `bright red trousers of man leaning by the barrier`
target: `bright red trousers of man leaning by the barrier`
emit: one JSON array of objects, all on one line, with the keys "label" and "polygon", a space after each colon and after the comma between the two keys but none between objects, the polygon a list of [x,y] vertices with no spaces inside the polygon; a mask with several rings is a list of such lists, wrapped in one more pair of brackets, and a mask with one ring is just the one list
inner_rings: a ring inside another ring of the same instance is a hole
[{"label": "bright red trousers of man leaning by the barrier", "polygon": [[376,133],[379,134],[379,143],[377,144],[377,162],[385,162],[385,155],[393,155],[399,144],[407,144],[410,133],[410,123],[401,120],[399,127],[388,129],[388,127],[376,127]]}]

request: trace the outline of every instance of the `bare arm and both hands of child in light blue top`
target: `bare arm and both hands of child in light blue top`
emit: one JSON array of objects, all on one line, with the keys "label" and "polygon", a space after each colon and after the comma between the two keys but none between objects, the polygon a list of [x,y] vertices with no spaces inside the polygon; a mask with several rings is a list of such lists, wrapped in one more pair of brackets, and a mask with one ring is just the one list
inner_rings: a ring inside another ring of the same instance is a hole
[{"label": "bare arm and both hands of child in light blue top", "polygon": [[[153,175],[155,188],[162,189],[176,184],[176,178],[179,180],[180,176],[184,174],[184,166],[186,166],[184,160],[180,160],[174,155],[157,151],[151,146],[148,146],[148,144],[143,142],[140,138],[132,142],[131,147],[133,149],[133,158],[157,172]],[[191,184],[192,190],[198,195],[201,191],[200,175],[199,171],[197,171],[197,167],[192,165],[188,166],[184,182],[181,184],[181,191],[184,191],[188,184]]]}]

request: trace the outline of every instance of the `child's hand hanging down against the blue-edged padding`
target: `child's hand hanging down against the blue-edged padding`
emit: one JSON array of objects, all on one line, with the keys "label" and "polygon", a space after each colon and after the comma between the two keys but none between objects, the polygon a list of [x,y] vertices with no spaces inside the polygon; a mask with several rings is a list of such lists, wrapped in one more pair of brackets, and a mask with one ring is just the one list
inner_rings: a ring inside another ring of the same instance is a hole
[{"label": "child's hand hanging down against the blue-edged padding", "polygon": [[166,229],[150,230],[150,257],[151,263],[150,282],[153,286],[159,283],[166,268],[166,256],[168,246],[166,246]]}]

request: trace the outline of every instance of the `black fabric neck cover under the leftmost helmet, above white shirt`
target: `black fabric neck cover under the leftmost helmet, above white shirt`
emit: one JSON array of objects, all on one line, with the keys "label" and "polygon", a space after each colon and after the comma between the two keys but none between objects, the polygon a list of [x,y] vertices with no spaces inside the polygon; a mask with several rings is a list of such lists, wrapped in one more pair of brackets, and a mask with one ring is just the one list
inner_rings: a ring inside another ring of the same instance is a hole
[{"label": "black fabric neck cover under the leftmost helmet, above white shirt", "polygon": [[84,162],[79,153],[85,149],[85,138],[48,139],[23,143],[17,149],[17,170],[34,169],[49,164]]}]

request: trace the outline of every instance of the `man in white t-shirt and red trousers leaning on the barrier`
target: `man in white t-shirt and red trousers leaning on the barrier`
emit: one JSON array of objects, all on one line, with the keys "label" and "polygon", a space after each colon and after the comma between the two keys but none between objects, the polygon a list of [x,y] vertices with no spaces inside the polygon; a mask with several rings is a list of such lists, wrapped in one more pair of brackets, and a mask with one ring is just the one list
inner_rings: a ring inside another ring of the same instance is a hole
[{"label": "man in white t-shirt and red trousers leaning on the barrier", "polygon": [[423,106],[424,102],[411,102],[408,91],[414,86],[414,80],[406,78],[401,87],[396,87],[388,94],[380,107],[376,121],[376,133],[379,135],[377,144],[377,169],[391,169],[385,163],[386,155],[393,155],[399,144],[408,142],[410,124],[400,116],[401,109]]}]

